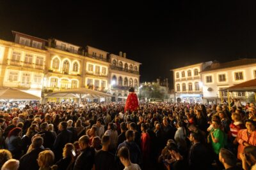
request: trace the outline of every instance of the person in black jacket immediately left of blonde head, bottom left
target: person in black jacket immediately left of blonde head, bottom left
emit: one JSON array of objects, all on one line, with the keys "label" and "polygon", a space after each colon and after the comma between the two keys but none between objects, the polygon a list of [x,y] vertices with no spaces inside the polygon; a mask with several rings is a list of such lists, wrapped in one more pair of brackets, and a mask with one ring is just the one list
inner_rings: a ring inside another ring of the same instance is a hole
[{"label": "person in black jacket immediately left of blonde head, bottom left", "polygon": [[38,154],[44,151],[44,148],[42,147],[43,143],[44,143],[44,139],[42,137],[37,136],[33,138],[33,141],[32,141],[33,150],[31,150],[31,152],[29,153],[26,153],[20,158],[19,170],[39,169],[36,159],[38,158]]}]

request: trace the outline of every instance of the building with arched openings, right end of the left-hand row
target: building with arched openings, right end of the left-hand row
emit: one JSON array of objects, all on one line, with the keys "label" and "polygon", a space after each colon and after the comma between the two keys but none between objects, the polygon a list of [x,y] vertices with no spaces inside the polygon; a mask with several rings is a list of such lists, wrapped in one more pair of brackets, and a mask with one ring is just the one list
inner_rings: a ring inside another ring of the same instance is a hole
[{"label": "building with arched openings, right end of the left-hand row", "polygon": [[109,55],[110,89],[113,101],[124,101],[129,94],[129,88],[138,92],[140,83],[140,62],[127,59],[126,53]]}]

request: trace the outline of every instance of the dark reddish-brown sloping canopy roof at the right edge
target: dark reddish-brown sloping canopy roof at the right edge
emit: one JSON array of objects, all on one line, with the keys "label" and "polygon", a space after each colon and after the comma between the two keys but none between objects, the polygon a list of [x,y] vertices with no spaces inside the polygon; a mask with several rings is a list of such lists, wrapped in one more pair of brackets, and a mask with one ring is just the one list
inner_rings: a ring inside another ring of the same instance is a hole
[{"label": "dark reddish-brown sloping canopy roof at the right edge", "polygon": [[221,92],[256,92],[256,79],[245,81],[237,85],[220,90]]}]

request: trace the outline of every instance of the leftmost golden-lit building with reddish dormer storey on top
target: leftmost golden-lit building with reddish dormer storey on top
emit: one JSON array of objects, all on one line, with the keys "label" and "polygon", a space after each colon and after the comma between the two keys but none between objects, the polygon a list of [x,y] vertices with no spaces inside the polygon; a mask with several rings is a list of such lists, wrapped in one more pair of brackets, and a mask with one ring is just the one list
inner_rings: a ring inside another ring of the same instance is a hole
[{"label": "leftmost golden-lit building with reddish dormer storey on top", "polygon": [[12,31],[14,43],[0,39],[0,86],[41,97],[47,40]]}]

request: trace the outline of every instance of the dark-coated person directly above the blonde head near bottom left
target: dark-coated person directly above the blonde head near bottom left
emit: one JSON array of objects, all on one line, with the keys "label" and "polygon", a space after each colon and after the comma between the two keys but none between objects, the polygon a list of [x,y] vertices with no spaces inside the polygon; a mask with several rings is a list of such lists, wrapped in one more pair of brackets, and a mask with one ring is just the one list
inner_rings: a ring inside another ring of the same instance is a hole
[{"label": "dark-coated person directly above the blonde head near bottom left", "polygon": [[53,143],[55,141],[55,136],[52,132],[48,131],[48,123],[44,122],[40,125],[41,131],[38,133],[44,138],[44,148],[52,149]]}]

